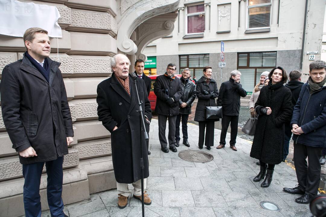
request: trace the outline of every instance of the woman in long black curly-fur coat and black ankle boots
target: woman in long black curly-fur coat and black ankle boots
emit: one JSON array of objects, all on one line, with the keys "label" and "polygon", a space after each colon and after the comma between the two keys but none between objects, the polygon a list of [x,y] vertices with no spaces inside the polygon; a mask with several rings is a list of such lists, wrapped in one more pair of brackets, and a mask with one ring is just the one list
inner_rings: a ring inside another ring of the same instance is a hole
[{"label": "woman in long black curly-fur coat and black ankle boots", "polygon": [[284,123],[290,121],[292,115],[291,91],[283,85],[288,80],[285,70],[275,67],[268,77],[270,81],[261,88],[255,104],[259,117],[250,152],[250,156],[260,162],[260,172],[254,182],[259,182],[266,175],[260,185],[263,188],[271,184],[275,164],[282,162]]}]

